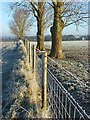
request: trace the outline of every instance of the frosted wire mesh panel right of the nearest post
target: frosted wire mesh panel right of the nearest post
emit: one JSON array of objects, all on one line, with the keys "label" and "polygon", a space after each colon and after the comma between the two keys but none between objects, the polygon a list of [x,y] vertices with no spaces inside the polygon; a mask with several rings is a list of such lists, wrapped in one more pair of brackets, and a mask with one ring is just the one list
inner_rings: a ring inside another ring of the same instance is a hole
[{"label": "frosted wire mesh panel right of the nearest post", "polygon": [[48,103],[55,118],[89,119],[89,116],[48,69]]}]

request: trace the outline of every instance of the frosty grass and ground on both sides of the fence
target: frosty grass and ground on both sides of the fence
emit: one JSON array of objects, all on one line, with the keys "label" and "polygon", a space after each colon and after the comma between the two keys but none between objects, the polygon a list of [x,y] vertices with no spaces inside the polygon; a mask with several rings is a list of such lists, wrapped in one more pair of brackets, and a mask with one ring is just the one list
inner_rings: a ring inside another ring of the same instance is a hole
[{"label": "frosty grass and ground on both sides of the fence", "polygon": [[[71,44],[72,43],[72,44]],[[46,43],[45,43],[46,44]],[[42,69],[37,60],[37,81],[26,56],[22,43],[2,43],[2,113],[6,119],[12,118],[48,118],[50,111],[41,109]],[[87,41],[63,44],[66,58],[55,60],[79,79],[67,75],[57,65],[50,62],[50,70],[73,95],[76,101],[90,113],[90,81],[88,78]],[[48,44],[46,44],[48,48]],[[50,47],[49,47],[50,48]],[[50,50],[47,49],[49,52]],[[39,83],[39,85],[38,85]],[[49,107],[48,107],[49,108]]]}]

